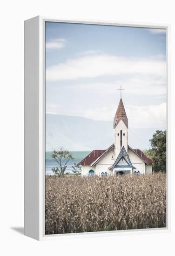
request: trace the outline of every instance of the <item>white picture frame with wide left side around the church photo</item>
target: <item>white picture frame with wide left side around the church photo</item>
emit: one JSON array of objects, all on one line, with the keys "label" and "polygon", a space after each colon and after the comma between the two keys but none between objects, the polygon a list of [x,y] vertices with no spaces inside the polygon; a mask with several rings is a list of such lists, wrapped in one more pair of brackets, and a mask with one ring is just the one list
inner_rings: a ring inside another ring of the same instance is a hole
[{"label": "white picture frame with wide left side around the church photo", "polygon": [[[167,227],[45,235],[45,22],[163,28],[167,31]],[[37,240],[65,236],[118,236],[170,231],[170,25],[104,20],[58,20],[37,16],[24,22],[24,234]]]}]

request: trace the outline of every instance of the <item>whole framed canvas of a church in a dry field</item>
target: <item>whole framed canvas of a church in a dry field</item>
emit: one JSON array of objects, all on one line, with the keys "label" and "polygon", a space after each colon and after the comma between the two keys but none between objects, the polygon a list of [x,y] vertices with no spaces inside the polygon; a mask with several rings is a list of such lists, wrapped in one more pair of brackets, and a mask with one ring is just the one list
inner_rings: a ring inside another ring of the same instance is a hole
[{"label": "whole framed canvas of a church in a dry field", "polygon": [[169,25],[24,22],[24,230],[170,230]]}]

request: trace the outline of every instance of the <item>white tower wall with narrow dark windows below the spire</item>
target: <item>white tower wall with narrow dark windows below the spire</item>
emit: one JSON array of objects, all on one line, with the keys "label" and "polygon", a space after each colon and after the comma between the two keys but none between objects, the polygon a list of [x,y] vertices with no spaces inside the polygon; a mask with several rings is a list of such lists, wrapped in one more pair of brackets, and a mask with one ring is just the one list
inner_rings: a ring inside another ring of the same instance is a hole
[{"label": "white tower wall with narrow dark windows below the spire", "polygon": [[[122,146],[121,146],[121,132],[122,130]],[[118,135],[119,134],[119,135]],[[125,135],[123,135],[125,134]],[[114,145],[115,145],[115,159],[119,155],[121,148],[124,146],[128,153],[128,128],[121,120],[114,129]]]}]

